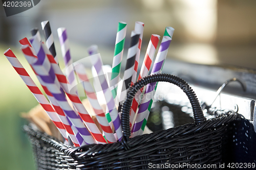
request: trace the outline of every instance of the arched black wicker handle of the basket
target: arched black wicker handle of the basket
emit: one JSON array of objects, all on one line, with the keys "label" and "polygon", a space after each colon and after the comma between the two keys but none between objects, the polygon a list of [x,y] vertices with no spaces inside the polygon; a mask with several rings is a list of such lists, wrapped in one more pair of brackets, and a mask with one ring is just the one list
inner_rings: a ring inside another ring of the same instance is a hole
[{"label": "arched black wicker handle of the basket", "polygon": [[157,75],[147,76],[143,79],[140,79],[133,86],[129,88],[127,92],[126,101],[122,104],[122,107],[121,107],[121,126],[123,130],[123,137],[121,142],[123,147],[126,150],[129,150],[130,148],[129,145],[127,144],[127,141],[131,136],[129,120],[130,120],[130,110],[131,110],[133,98],[139,89],[141,89],[143,86],[149,83],[154,83],[154,82],[169,82],[179,86],[186,93],[189,99],[189,102],[193,108],[195,124],[197,125],[201,124],[206,120],[195,92],[183,79],[174,75],[169,75],[169,74],[157,74]]}]

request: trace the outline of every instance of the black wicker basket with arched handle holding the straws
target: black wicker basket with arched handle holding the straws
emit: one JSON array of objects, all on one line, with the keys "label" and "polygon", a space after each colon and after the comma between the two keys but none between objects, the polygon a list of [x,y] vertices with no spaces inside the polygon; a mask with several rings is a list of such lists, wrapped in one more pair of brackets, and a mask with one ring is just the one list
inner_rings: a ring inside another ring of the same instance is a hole
[{"label": "black wicker basket with arched handle holding the straws", "polygon": [[[158,81],[173,83],[186,93],[195,123],[130,138],[134,95],[146,84]],[[38,169],[219,169],[227,126],[236,117],[237,113],[227,111],[206,120],[194,91],[184,80],[159,74],[139,80],[127,92],[120,142],[71,147],[28,126],[24,130],[31,139]]]}]

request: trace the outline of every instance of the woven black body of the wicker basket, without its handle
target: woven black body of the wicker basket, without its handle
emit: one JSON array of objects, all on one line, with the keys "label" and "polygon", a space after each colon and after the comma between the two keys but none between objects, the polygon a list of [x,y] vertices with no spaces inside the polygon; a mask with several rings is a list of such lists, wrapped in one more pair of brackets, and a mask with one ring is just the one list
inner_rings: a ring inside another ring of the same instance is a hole
[{"label": "woven black body of the wicker basket, without its handle", "polygon": [[[236,114],[231,112],[229,116],[207,120],[200,126],[186,124],[134,137],[129,140],[129,151],[124,150],[121,142],[73,148],[27,126],[25,131],[34,141],[40,141],[41,147],[34,150],[38,169],[147,169],[148,163],[166,162],[218,165],[222,161],[223,136],[226,133],[226,125],[223,124],[234,118]],[[45,152],[55,159],[47,164],[47,168],[44,168],[46,164],[40,163],[45,157],[48,159]]]}]

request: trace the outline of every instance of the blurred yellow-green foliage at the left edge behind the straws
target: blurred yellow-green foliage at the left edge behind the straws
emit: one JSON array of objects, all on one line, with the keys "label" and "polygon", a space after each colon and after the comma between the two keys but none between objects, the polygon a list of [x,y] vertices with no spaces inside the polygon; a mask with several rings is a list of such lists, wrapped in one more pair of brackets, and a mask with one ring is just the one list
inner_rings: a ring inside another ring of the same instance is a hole
[{"label": "blurred yellow-green foliage at the left edge behind the straws", "polygon": [[[4,56],[7,48],[0,44],[0,165],[6,170],[35,169],[32,148],[22,131],[27,122],[20,113],[28,112],[37,101]],[[11,49],[32,73],[19,50]]]}]

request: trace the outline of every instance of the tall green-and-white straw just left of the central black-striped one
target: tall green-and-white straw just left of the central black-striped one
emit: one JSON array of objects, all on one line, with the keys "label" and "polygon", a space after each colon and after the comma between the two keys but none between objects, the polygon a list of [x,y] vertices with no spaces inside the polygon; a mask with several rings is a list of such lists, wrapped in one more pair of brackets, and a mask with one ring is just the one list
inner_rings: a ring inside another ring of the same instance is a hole
[{"label": "tall green-and-white straw just left of the central black-striped one", "polygon": [[[123,46],[125,41],[126,35],[126,28],[127,23],[125,22],[118,22],[118,29],[116,34],[116,45],[115,45],[115,52],[113,58],[113,65],[112,65],[112,74],[110,80],[110,89],[116,104],[118,104],[117,100],[117,85],[120,78],[120,70],[121,70],[121,61],[123,57]],[[106,113],[106,118],[108,119],[109,123],[111,122],[110,114]]]}]

